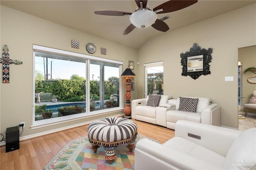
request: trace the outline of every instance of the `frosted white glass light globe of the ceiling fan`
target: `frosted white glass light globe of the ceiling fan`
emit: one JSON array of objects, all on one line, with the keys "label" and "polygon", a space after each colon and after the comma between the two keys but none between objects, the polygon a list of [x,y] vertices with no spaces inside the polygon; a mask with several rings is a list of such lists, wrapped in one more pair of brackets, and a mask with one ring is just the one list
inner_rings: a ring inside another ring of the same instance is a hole
[{"label": "frosted white glass light globe of the ceiling fan", "polygon": [[154,24],[157,14],[152,10],[138,10],[130,15],[130,22],[138,28],[147,28]]}]

